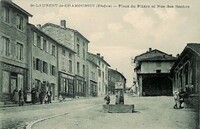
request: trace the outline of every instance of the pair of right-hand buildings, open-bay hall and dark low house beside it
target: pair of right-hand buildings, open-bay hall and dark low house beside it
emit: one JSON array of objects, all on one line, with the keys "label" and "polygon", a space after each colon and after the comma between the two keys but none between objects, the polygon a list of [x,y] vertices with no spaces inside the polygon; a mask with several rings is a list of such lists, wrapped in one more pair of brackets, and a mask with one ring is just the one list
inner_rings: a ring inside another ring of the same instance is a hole
[{"label": "pair of right-hand buildings, open-bay hall and dark low house beside it", "polygon": [[189,94],[187,103],[198,107],[200,43],[188,43],[176,57],[149,48],[136,56],[134,63],[137,84],[134,89],[139,96],[172,95],[182,88]]}]

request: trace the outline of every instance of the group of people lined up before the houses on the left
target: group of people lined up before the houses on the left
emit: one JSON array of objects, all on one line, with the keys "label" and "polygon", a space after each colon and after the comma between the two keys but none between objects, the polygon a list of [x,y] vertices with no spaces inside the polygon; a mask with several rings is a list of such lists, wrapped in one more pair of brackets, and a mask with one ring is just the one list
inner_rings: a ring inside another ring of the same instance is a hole
[{"label": "group of people lined up before the houses on the left", "polygon": [[52,98],[51,90],[48,90],[47,92],[41,90],[40,92],[38,92],[35,87],[31,89],[31,92],[29,91],[29,89],[24,90],[24,91],[20,89],[18,91],[17,88],[15,88],[13,91],[13,102],[15,104],[18,103],[19,106],[23,106],[24,103],[35,104],[38,101],[41,104],[51,103],[51,98]]}]

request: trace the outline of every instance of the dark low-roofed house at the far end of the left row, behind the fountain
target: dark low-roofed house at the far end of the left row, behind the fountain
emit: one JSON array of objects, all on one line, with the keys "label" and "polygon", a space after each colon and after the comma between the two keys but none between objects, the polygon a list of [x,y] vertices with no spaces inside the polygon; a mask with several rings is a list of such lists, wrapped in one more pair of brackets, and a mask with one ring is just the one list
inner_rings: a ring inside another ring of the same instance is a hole
[{"label": "dark low-roofed house at the far end of the left row, behind the fountain", "polygon": [[108,92],[115,94],[115,83],[123,82],[124,90],[126,89],[126,78],[117,70],[108,68]]}]

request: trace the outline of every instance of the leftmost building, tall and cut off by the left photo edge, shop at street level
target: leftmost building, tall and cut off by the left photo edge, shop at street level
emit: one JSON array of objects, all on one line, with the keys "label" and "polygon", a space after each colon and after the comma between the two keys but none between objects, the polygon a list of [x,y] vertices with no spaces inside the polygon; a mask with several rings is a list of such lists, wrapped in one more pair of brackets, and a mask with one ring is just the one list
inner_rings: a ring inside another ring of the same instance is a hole
[{"label": "leftmost building, tall and cut off by the left photo edge, shop at street level", "polygon": [[14,89],[27,87],[27,23],[32,15],[13,3],[0,1],[0,99],[12,100]]}]

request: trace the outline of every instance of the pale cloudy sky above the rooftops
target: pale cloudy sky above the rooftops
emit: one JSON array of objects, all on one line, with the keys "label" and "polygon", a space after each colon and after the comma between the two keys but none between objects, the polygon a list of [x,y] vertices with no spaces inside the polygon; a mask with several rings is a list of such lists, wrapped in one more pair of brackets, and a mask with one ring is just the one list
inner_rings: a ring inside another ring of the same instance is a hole
[{"label": "pale cloudy sky above the rooftops", "polygon": [[[199,0],[12,1],[33,15],[32,24],[59,25],[66,20],[67,27],[90,41],[89,52],[101,53],[112,69],[125,76],[127,87],[135,75],[135,56],[149,48],[176,56],[187,43],[200,43]],[[85,4],[90,7],[80,6]]]}]

